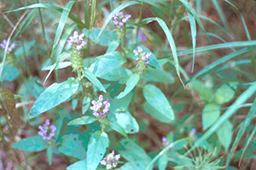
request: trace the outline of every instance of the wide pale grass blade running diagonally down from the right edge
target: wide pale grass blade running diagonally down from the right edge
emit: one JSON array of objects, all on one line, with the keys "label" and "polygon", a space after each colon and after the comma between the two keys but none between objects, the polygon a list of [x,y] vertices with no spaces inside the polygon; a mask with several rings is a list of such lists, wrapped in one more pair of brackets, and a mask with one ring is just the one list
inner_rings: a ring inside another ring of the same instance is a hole
[{"label": "wide pale grass blade running diagonally down from the right edge", "polygon": [[199,146],[203,141],[207,140],[212,133],[215,133],[224,122],[228,121],[230,116],[233,116],[236,111],[239,109],[239,106],[244,104],[247,99],[249,99],[256,92],[256,82],[253,83],[245,92],[243,92],[236,101],[229,107],[227,111],[224,112],[222,116],[218,118],[217,122],[214,122],[212,127],[204,133],[200,139],[198,139],[195,144],[191,147],[189,151],[186,152],[187,155],[190,151],[194,150],[197,146]]}]

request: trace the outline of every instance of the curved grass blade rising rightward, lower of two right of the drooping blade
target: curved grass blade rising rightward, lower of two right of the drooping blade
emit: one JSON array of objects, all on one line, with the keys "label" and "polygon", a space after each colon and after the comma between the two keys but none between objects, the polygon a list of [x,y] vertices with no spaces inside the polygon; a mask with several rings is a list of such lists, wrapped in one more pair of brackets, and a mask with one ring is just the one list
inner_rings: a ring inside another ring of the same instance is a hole
[{"label": "curved grass blade rising rightward, lower of two right of the drooping blade", "polygon": [[190,80],[188,82],[185,82],[185,84],[188,84],[189,82],[193,82],[196,78],[201,77],[202,75],[204,75],[207,72],[211,71],[214,67],[216,67],[216,66],[218,66],[220,64],[223,64],[227,60],[233,59],[234,57],[236,57],[238,55],[245,54],[248,51],[249,51],[248,48],[242,48],[241,50],[238,50],[238,51],[235,51],[233,53],[230,53],[230,54],[227,54],[227,55],[223,56],[222,58],[214,61],[210,65],[207,65],[206,67],[201,69],[201,71],[198,71],[193,77],[190,78]]}]

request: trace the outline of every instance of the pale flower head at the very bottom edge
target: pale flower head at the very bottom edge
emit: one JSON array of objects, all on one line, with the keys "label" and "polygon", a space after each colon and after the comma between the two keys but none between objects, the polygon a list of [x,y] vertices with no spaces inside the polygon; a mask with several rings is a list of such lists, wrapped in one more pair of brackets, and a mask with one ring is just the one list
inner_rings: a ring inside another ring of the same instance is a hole
[{"label": "pale flower head at the very bottom edge", "polygon": [[109,153],[106,157],[103,158],[103,160],[101,161],[101,164],[106,166],[107,169],[112,169],[112,167],[117,167],[118,165],[118,160],[121,158],[121,156],[118,155],[114,155],[114,150],[112,150],[111,153]]}]

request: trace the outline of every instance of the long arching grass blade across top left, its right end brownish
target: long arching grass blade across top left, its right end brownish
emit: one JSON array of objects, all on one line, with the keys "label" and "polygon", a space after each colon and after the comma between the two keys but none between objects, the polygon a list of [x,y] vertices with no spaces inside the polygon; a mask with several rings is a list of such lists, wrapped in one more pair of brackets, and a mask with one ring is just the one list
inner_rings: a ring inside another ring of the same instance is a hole
[{"label": "long arching grass blade across top left, its right end brownish", "polygon": [[[59,12],[62,13],[62,11],[64,10],[63,8],[60,8],[60,7],[56,7],[55,5],[51,5],[51,4],[47,4],[47,3],[35,3],[35,4],[32,4],[32,5],[29,5],[29,6],[26,6],[26,7],[21,7],[21,8],[16,8],[14,10],[9,10],[9,11],[6,11],[4,13],[13,13],[13,12],[17,12],[17,11],[20,11],[20,10],[25,10],[25,9],[31,9],[31,8],[50,8],[50,9],[55,9]],[[79,27],[81,28],[89,28],[89,26],[85,25],[81,20],[79,20],[78,17],[76,17],[75,15],[73,14],[68,14],[68,17],[73,20],[75,23],[78,24]]]}]

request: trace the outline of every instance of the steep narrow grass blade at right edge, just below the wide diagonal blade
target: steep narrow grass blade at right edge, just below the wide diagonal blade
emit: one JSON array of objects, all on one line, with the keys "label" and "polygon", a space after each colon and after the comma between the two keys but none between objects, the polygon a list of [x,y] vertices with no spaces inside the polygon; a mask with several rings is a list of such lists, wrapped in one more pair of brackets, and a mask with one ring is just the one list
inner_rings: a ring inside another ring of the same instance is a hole
[{"label": "steep narrow grass blade at right edge, just below the wide diagonal blade", "polygon": [[234,143],[232,144],[229,156],[227,157],[227,161],[225,164],[226,167],[229,166],[230,160],[233,156],[233,153],[236,150],[236,147],[237,147],[239,141],[241,140],[242,135],[246,132],[247,127],[249,126],[250,122],[252,121],[253,116],[255,115],[255,112],[256,112],[256,98],[253,101],[253,105],[251,106],[250,111],[248,111],[248,113],[247,113],[247,117],[242,122],[241,127],[239,128],[239,131],[236,134],[236,139],[235,139]]}]

